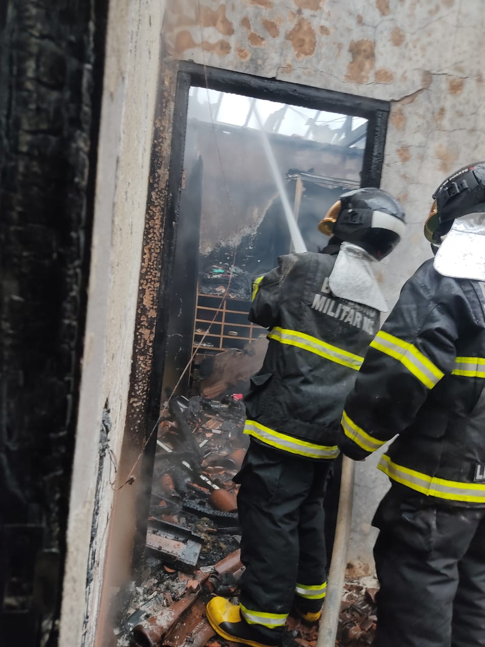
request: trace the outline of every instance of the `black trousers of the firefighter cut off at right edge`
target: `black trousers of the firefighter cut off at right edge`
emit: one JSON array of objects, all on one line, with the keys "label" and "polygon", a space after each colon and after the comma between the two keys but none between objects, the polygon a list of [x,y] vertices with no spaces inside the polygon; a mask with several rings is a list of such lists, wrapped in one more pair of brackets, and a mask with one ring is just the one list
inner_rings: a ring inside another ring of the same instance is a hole
[{"label": "black trousers of the firefighter cut off at right edge", "polygon": [[383,498],[374,647],[485,646],[485,509]]}]

